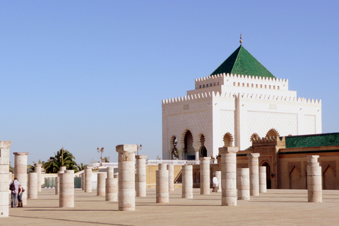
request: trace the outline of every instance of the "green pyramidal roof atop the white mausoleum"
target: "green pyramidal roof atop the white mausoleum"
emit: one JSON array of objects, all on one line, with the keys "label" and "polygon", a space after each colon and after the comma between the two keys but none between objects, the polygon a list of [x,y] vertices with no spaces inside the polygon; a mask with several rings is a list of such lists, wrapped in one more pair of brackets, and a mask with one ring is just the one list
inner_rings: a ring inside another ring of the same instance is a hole
[{"label": "green pyramidal roof atop the white mausoleum", "polygon": [[210,75],[218,73],[232,73],[247,76],[275,78],[257,59],[255,59],[242,45],[236,49]]}]

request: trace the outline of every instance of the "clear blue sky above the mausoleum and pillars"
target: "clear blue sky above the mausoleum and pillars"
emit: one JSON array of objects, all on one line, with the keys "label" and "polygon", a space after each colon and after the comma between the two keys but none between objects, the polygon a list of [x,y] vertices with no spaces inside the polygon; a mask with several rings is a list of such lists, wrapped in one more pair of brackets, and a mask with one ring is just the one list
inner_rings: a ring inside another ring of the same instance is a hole
[{"label": "clear blue sky above the mausoleum and pillars", "polygon": [[[244,47],[338,132],[339,1],[1,1],[0,140],[28,164],[162,153],[161,100]],[[11,154],[13,165],[13,154]]]}]

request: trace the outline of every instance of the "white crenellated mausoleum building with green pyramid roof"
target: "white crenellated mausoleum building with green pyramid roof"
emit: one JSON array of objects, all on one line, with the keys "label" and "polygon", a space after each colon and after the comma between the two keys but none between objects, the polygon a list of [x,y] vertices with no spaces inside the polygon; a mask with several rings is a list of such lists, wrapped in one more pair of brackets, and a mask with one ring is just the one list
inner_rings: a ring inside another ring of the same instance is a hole
[{"label": "white crenellated mausoleum building with green pyramid roof", "polygon": [[184,97],[162,100],[162,158],[197,160],[251,137],[321,133],[321,100],[297,97],[240,45]]}]

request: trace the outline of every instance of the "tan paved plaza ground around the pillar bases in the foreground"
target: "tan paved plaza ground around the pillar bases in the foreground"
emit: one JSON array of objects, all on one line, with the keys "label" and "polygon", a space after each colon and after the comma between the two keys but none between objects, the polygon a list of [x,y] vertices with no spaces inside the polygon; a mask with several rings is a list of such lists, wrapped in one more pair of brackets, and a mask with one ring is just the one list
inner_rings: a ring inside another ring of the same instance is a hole
[{"label": "tan paved plaza ground around the pillar bases in the foreground", "polygon": [[169,193],[169,203],[155,203],[155,189],[136,198],[136,210],[119,211],[118,203],[75,190],[75,208],[59,208],[54,189],[42,189],[24,208],[10,208],[0,225],[339,225],[339,191],[323,191],[323,203],[308,203],[307,190],[268,190],[267,194],[221,206],[221,193],[181,198]]}]

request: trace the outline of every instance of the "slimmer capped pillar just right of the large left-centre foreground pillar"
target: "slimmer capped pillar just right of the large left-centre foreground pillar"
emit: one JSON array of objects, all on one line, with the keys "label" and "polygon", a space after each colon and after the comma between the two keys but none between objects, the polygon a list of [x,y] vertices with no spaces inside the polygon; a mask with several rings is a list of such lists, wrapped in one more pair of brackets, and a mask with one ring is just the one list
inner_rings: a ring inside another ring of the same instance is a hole
[{"label": "slimmer capped pillar just right of the large left-centre foreground pillar", "polygon": [[146,196],[146,157],[136,155],[136,197]]}]

